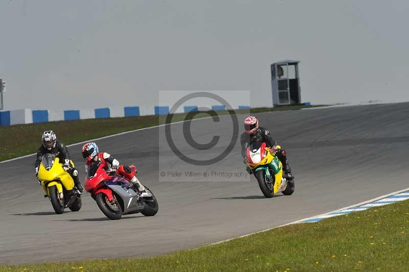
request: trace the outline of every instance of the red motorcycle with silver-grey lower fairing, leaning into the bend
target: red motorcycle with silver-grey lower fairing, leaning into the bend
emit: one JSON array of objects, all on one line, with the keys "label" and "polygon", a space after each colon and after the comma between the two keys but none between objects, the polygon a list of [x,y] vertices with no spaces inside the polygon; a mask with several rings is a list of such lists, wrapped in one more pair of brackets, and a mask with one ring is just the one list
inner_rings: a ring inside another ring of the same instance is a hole
[{"label": "red motorcycle with silver-grey lower fairing, leaning into the bend", "polygon": [[145,216],[157,213],[157,200],[149,188],[145,187],[143,193],[131,188],[129,180],[136,171],[134,165],[121,165],[117,171],[105,171],[102,164],[88,167],[84,188],[109,219],[118,220],[122,215],[139,212]]}]

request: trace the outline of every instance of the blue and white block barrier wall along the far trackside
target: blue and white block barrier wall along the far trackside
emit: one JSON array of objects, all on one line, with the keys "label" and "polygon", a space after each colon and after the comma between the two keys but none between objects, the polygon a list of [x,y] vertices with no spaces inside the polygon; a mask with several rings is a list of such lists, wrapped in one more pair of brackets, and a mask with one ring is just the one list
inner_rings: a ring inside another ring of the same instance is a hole
[{"label": "blue and white block barrier wall along the far trackside", "polygon": [[[224,105],[213,105],[213,110],[225,110]],[[238,106],[239,109],[250,109],[249,106]],[[129,106],[129,107],[105,107],[96,109],[17,109],[0,111],[0,126],[17,124],[43,123],[53,121],[72,121],[79,119],[100,119],[117,117],[135,117],[148,115],[167,115],[169,106]],[[176,113],[200,110],[199,106],[180,107]]]}]

